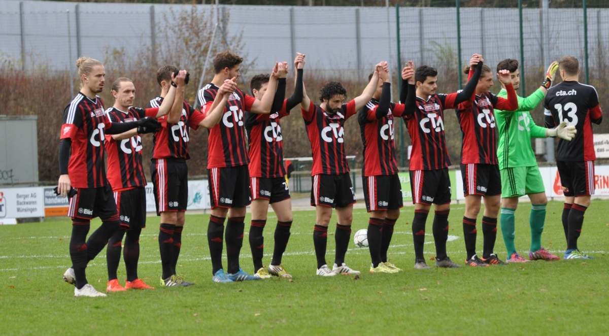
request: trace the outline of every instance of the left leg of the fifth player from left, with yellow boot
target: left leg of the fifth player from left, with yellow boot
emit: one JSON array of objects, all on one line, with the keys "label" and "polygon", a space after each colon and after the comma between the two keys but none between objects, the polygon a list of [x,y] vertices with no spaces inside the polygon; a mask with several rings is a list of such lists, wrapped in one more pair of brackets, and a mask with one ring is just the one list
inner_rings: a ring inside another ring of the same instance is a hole
[{"label": "left leg of the fifth player from left, with yellow boot", "polygon": [[252,190],[252,223],[250,224],[249,242],[252,250],[252,261],[254,263],[254,273],[261,279],[270,279],[271,276],[262,265],[264,256],[264,226],[267,221],[270,198],[270,179],[250,177],[250,189]]}]

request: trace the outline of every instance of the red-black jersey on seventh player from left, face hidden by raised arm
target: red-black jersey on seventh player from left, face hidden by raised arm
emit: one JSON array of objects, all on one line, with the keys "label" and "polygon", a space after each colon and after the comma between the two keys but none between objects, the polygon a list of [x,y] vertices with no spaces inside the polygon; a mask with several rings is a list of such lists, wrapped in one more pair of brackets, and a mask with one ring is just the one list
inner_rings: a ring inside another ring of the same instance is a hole
[{"label": "red-black jersey on seventh player from left, face hidden by raised arm", "polygon": [[394,175],[398,173],[393,141],[394,117],[401,117],[404,104],[389,104],[387,115],[378,117],[376,110],[379,100],[372,99],[357,113],[359,131],[364,144],[364,165],[362,175]]}]

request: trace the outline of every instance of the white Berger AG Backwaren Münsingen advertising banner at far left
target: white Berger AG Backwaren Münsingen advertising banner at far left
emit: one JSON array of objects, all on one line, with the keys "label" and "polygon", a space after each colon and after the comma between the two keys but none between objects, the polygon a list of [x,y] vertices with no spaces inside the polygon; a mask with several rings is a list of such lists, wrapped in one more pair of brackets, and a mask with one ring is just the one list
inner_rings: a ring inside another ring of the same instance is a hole
[{"label": "white Berger AG Backwaren M\u00fcnsingen advertising banner at far left", "polygon": [[0,219],[29,217],[44,217],[43,188],[0,188]]}]

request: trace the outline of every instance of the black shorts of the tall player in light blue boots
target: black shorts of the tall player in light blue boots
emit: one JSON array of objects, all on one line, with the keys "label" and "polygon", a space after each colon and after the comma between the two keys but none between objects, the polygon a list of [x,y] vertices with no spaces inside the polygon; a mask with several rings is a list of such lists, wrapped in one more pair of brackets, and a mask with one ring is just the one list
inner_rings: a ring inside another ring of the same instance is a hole
[{"label": "black shorts of the tall player in light blue boots", "polygon": [[252,203],[247,165],[207,170],[211,208],[243,208]]}]

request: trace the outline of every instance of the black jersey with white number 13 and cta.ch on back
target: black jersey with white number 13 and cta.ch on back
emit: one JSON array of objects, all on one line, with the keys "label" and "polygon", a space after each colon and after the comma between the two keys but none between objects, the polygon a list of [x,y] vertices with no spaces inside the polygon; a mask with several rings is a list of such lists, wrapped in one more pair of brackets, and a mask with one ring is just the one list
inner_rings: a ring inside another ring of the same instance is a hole
[{"label": "black jersey with white number 13 and cta.ch on back", "polygon": [[602,122],[599,95],[594,86],[576,81],[562,82],[547,90],[543,106],[546,108],[546,126],[554,128],[563,121],[576,127],[577,134],[571,141],[558,139],[556,159],[559,161],[593,161],[594,151],[592,123]]}]

